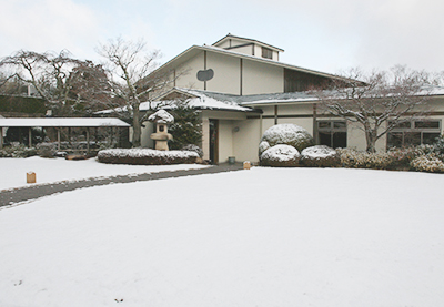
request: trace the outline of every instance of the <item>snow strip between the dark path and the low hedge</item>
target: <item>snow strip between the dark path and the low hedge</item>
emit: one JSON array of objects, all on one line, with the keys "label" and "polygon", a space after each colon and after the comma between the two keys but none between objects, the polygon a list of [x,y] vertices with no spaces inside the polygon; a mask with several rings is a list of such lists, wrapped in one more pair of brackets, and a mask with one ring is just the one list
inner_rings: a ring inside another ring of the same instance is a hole
[{"label": "snow strip between the dark path and the low hedge", "polygon": [[28,186],[27,173],[34,172],[37,184],[60,181],[77,181],[91,177],[143,174],[164,171],[191,170],[208,167],[198,164],[176,165],[118,165],[99,163],[95,158],[64,160],[32,156],[28,158],[0,158],[0,191]]}]

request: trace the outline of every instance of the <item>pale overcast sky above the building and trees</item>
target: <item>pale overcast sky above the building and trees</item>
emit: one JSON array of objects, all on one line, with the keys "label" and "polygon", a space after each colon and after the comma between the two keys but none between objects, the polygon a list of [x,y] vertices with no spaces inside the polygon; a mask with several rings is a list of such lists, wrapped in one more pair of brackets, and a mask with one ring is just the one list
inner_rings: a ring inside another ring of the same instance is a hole
[{"label": "pale overcast sky above the building and trees", "polygon": [[0,0],[0,57],[143,39],[165,62],[228,33],[282,48],[281,61],[337,73],[352,66],[444,71],[438,0]]}]

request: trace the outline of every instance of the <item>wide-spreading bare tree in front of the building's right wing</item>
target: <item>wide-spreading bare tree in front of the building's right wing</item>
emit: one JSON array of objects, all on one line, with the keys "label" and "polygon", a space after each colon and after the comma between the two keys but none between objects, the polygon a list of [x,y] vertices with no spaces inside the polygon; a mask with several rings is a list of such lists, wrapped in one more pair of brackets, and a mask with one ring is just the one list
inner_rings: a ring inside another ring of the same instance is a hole
[{"label": "wide-spreading bare tree in front of the building's right wing", "polygon": [[332,80],[327,90],[313,91],[320,110],[357,125],[366,139],[366,151],[375,152],[376,141],[400,124],[424,116],[436,84],[431,74],[395,66],[370,74],[352,69],[344,80]]}]

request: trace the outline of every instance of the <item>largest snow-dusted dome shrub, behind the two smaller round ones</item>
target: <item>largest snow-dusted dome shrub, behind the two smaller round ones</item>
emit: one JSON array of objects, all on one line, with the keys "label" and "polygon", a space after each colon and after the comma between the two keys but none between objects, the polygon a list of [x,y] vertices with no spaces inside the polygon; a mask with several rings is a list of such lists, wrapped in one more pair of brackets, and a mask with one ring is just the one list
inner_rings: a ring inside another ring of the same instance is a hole
[{"label": "largest snow-dusted dome shrub, behind the two smaller round ones", "polygon": [[[266,151],[266,142],[270,147],[285,144],[295,147],[299,152],[313,145],[313,137],[302,126],[295,124],[279,124],[268,129],[261,139],[260,156]],[[265,149],[265,150],[264,150]],[[261,150],[264,150],[261,152]]]}]

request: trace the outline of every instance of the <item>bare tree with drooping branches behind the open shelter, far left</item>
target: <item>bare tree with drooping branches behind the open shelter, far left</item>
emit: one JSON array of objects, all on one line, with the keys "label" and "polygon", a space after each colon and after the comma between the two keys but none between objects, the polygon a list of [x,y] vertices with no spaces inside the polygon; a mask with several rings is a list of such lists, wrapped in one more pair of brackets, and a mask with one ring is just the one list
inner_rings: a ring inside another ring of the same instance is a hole
[{"label": "bare tree with drooping branches behind the open shelter, far left", "polygon": [[0,61],[0,68],[9,69],[8,80],[18,80],[31,85],[46,100],[56,115],[68,115],[78,104],[79,95],[73,94],[74,83],[79,83],[81,68],[91,70],[91,64],[71,57],[63,50],[60,53],[18,51]]}]

